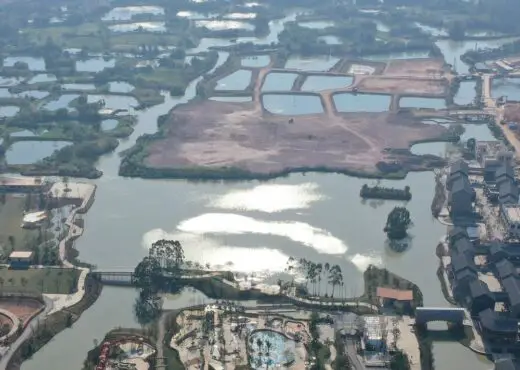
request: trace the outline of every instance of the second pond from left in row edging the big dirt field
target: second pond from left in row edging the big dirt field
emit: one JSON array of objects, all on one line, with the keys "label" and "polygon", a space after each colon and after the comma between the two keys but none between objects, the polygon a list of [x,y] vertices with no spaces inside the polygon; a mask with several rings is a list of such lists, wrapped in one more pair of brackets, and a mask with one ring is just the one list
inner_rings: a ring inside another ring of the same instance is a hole
[{"label": "second pond from left in row edging the big dirt field", "polygon": [[318,95],[264,94],[264,108],[274,114],[302,115],[323,113],[323,105]]}]

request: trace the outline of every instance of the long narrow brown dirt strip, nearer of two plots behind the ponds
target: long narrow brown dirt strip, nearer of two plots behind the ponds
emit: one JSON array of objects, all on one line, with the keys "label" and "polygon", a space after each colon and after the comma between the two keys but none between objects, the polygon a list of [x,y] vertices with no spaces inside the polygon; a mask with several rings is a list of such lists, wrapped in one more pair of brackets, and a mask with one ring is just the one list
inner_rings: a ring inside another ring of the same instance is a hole
[{"label": "long narrow brown dirt strip, nearer of two plots behind the ponds", "polygon": [[362,78],[356,87],[360,91],[382,92],[388,94],[428,94],[442,96],[447,84],[443,80],[412,78],[385,78],[370,76]]}]

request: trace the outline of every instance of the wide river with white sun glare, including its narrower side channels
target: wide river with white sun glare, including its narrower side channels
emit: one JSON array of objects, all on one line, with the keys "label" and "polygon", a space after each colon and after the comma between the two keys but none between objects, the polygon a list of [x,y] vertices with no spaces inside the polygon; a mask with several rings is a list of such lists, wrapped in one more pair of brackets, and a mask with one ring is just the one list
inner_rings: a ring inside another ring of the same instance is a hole
[{"label": "wide river with white sun glare, including its narrower side channels", "polygon": [[[276,32],[281,30],[280,23],[271,23],[276,24]],[[118,153],[140,135],[155,132],[157,117],[191,99],[197,81],[183,98],[165,94],[163,104],[138,112],[135,131],[121,142]],[[80,258],[100,270],[132,269],[154,240],[167,237],[182,242],[187,259],[256,272],[268,280],[283,271],[289,256],[339,264],[346,286],[340,294],[346,296],[362,293],[362,271],[374,263],[416,283],[425,305],[448,305],[436,275],[435,247],[446,229],[430,215],[431,172],[382,181],[410,186],[413,198],[408,203],[362,201],[361,186],[375,182],[337,174],[293,174],[267,182],[122,178],[117,175],[118,153],[100,160],[98,167],[104,175],[95,181],[96,201],[84,217],[86,230],[76,243]],[[383,233],[387,214],[398,204],[406,204],[414,222],[409,247],[402,253],[389,248]],[[101,340],[116,326],[138,325],[132,312],[135,298],[133,289],[105,288],[72,328],[58,334],[22,369],[80,369],[94,339]],[[204,300],[201,293],[185,290],[169,297],[165,307]],[[434,356],[441,370],[491,367],[458,343],[434,343]]]}]

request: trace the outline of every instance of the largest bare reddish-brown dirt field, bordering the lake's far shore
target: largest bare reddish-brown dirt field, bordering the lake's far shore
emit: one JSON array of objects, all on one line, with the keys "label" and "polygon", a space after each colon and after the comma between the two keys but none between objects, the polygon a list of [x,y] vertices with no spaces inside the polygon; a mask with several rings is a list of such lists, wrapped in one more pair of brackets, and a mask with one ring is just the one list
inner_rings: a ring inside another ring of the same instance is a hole
[{"label": "largest bare reddish-brown dirt field, bordering the lake's far shore", "polygon": [[290,117],[254,109],[254,103],[204,101],[179,106],[169,136],[148,147],[154,168],[237,167],[260,174],[327,167],[375,172],[386,148],[408,148],[445,129],[407,114],[352,113]]}]

